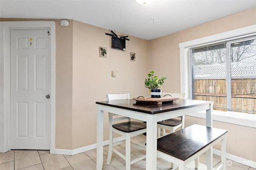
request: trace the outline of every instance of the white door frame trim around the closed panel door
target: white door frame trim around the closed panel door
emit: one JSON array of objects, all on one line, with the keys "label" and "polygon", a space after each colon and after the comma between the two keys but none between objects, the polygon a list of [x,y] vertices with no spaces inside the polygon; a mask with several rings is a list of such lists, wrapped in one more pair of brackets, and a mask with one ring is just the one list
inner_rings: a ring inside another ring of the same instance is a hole
[{"label": "white door frame trim around the closed panel door", "polygon": [[50,29],[51,43],[51,116],[50,153],[55,150],[55,22],[54,21],[6,21],[0,22],[0,152],[11,149],[11,97],[10,97],[10,30]]}]

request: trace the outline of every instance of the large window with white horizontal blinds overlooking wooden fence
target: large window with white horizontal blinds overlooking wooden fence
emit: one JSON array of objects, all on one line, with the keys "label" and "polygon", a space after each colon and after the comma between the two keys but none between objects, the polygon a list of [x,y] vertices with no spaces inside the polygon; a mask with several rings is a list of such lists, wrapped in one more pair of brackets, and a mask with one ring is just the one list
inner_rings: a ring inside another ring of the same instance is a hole
[{"label": "large window with white horizontal blinds overlooking wooden fence", "polygon": [[256,114],[256,36],[190,46],[185,55],[188,98]]}]

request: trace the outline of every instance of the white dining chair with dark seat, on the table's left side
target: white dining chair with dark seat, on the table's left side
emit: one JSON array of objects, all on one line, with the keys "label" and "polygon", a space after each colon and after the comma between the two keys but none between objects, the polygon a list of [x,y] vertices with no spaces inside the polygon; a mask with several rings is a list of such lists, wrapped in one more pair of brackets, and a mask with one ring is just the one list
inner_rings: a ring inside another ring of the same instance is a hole
[{"label": "white dining chair with dark seat, on the table's left side", "polygon": [[[130,94],[107,94],[107,100],[116,100],[116,99],[130,99]],[[126,170],[130,170],[130,165],[138,162],[144,158],[146,158],[146,154],[131,160],[131,138],[134,136],[138,136],[139,134],[143,134],[146,132],[146,123],[131,121],[130,117],[121,117],[120,115],[116,115],[114,113],[108,113],[109,119],[109,149],[108,149],[108,159],[107,165],[110,165],[112,152],[115,152],[120,157],[122,157],[126,161]],[[122,121],[121,120],[126,120]],[[118,123],[116,123],[118,121]],[[125,139],[118,142],[113,142],[113,132],[121,134],[125,136]],[[118,144],[122,144],[125,142],[125,155],[119,152],[114,148],[114,146]],[[133,146],[136,146],[142,150],[146,151],[145,146],[140,146],[138,144],[133,143]]]}]

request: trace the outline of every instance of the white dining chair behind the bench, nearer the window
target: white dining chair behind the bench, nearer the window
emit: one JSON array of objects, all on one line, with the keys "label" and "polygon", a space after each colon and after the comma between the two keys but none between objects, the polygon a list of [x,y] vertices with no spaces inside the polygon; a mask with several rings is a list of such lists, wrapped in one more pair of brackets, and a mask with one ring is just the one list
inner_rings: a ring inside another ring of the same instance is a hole
[{"label": "white dining chair behind the bench, nearer the window", "polygon": [[[185,93],[162,93],[162,97],[178,97],[180,99],[185,98]],[[166,132],[166,130],[169,130],[170,133],[173,133],[177,128],[181,127],[184,128],[184,116],[177,117],[174,119],[168,119],[164,121],[160,121],[157,123],[158,127],[158,137],[165,136],[169,133]],[[161,133],[162,129],[162,133]],[[161,135],[162,134],[162,135]]]}]

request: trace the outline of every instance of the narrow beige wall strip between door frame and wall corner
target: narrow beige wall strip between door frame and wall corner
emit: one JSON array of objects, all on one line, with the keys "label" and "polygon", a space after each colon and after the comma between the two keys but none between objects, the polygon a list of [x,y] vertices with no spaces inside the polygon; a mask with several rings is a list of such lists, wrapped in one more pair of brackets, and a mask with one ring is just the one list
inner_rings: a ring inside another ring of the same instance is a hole
[{"label": "narrow beige wall strip between door frame and wall corner", "polygon": [[56,20],[56,148],[72,149],[73,20]]}]

